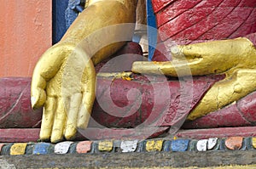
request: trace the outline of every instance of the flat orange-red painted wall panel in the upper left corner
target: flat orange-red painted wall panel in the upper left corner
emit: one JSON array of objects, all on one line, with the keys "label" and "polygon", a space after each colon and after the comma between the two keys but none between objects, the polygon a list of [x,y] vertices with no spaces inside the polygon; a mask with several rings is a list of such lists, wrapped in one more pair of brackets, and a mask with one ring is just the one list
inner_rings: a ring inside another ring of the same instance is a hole
[{"label": "flat orange-red painted wall panel in the upper left corner", "polygon": [[52,43],[51,0],[0,0],[0,77],[32,76]]}]

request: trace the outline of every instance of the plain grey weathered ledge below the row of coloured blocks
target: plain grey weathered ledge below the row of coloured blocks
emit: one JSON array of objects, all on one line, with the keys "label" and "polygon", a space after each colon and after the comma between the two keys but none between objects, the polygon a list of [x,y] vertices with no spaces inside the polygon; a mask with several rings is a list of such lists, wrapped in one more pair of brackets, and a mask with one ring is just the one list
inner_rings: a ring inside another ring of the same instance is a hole
[{"label": "plain grey weathered ledge below the row of coloured blocks", "polygon": [[[256,164],[256,151],[104,153],[84,155],[0,156],[9,168],[207,167]],[[0,167],[1,168],[1,167]],[[248,167],[247,167],[248,168]]]}]

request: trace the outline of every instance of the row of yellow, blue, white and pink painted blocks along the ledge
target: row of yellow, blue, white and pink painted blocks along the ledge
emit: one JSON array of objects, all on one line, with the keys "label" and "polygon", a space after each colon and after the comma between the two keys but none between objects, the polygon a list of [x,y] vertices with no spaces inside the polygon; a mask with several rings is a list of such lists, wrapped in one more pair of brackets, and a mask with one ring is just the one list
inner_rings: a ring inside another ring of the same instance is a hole
[{"label": "row of yellow, blue, white and pink painted blocks along the ledge", "polygon": [[101,140],[0,144],[0,155],[101,154],[131,152],[231,151],[256,149],[256,138]]}]

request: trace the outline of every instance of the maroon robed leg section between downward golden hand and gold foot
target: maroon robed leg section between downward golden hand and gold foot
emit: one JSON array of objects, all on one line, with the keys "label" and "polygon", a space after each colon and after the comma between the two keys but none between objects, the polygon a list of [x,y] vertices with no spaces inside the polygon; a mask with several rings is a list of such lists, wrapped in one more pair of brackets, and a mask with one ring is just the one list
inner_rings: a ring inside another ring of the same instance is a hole
[{"label": "maroon robed leg section between downward golden hand and gold foot", "polygon": [[[92,113],[94,121],[91,119],[90,127],[99,124],[123,128],[173,126],[186,118],[190,110],[188,107],[195,106],[202,93],[212,86],[212,81],[218,81],[223,76],[194,77],[192,84],[189,80],[166,81],[166,78],[153,76],[132,78],[132,81],[115,79],[111,82],[98,79],[97,101]],[[192,85],[193,93],[189,90]]]}]

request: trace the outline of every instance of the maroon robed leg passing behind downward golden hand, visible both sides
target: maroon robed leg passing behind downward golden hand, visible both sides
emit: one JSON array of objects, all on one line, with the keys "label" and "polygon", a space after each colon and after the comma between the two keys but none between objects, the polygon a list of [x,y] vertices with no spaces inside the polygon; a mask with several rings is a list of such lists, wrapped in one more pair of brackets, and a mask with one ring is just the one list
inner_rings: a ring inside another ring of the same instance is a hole
[{"label": "maroon robed leg passing behind downward golden hand, visible both sides", "polygon": [[[97,101],[92,114],[94,121],[90,121],[91,126],[136,127],[141,124],[152,124],[156,119],[158,120],[157,126],[173,125],[179,120],[174,117],[180,105],[191,104],[193,107],[213,82],[222,77],[195,77],[193,82],[195,92],[191,93],[192,100],[183,97],[185,93],[180,90],[181,82],[166,81],[165,77],[158,79],[154,76],[132,76],[132,78],[132,81],[112,77],[98,78]],[[191,85],[186,81],[182,83],[184,87]],[[0,85],[2,85],[0,106],[3,107],[0,112],[0,127],[39,127],[42,112],[31,109],[30,79],[2,78]],[[137,92],[130,92],[134,89],[142,93],[142,97],[138,97]],[[131,100],[127,99],[128,93]],[[10,98],[10,95],[14,97]],[[180,99],[181,96],[183,99]],[[167,103],[166,99],[162,99],[163,97],[170,99],[170,102]],[[140,99],[142,104],[139,104]],[[137,107],[133,105],[134,103],[138,104]],[[15,107],[12,108],[11,105]],[[188,113],[189,110],[184,110],[183,115],[178,115],[178,117],[185,118]]]}]

